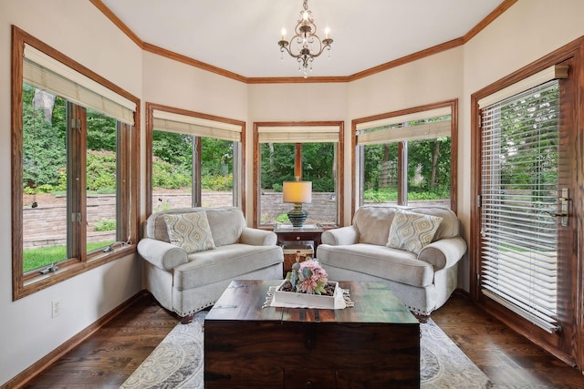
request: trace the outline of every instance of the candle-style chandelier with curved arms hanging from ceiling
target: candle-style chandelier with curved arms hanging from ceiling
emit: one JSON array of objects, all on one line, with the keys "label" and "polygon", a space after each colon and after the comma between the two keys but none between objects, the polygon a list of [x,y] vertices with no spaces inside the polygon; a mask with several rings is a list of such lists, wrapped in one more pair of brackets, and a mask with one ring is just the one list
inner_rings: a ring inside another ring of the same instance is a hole
[{"label": "candle-style chandelier with curved arms hanging from ceiling", "polygon": [[282,28],[282,39],[277,43],[282,52],[293,56],[298,61],[298,70],[304,70],[304,77],[308,77],[308,69],[312,70],[312,61],[320,56],[325,49],[330,50],[332,39],[328,36],[328,27],[325,29],[325,38],[320,39],[317,35],[317,25],[314,23],[312,13],[308,9],[308,0],[304,0],[303,10],[300,11],[300,18],[294,28],[295,36],[290,42],[286,40],[286,29]]}]

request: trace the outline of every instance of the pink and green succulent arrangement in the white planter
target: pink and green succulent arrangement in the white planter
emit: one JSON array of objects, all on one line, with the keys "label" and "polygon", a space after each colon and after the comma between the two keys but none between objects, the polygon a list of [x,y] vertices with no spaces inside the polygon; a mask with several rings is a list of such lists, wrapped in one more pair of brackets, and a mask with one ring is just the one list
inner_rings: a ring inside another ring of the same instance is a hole
[{"label": "pink and green succulent arrangement in the white planter", "polygon": [[288,271],[287,282],[282,285],[284,292],[332,295],[334,284],[328,283],[327,271],[316,260],[296,262]]}]

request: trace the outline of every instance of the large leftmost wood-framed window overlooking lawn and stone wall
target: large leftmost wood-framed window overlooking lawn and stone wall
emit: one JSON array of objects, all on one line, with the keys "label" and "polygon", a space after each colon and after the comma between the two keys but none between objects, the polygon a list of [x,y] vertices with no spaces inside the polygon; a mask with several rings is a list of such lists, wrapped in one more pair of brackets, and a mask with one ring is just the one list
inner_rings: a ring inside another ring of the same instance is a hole
[{"label": "large leftmost wood-framed window overlooking lawn and stone wall", "polygon": [[135,250],[138,99],[14,27],[13,287]]}]

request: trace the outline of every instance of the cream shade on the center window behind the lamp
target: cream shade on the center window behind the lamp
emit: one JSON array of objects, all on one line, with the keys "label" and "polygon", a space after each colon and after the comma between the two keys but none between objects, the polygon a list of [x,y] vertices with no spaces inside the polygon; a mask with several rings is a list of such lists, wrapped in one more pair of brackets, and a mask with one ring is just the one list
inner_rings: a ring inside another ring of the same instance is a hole
[{"label": "cream shade on the center window behind the lamp", "polygon": [[339,142],[339,126],[258,127],[260,143],[334,143]]}]

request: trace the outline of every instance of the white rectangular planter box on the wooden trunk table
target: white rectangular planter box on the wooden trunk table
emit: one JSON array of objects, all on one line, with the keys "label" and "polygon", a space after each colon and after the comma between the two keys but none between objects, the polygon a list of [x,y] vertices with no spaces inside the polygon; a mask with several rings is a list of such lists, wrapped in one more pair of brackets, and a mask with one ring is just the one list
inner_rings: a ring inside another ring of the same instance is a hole
[{"label": "white rectangular planter box on the wooden trunk table", "polygon": [[343,292],[339,288],[339,282],[328,282],[335,284],[335,293],[333,296],[322,294],[308,294],[299,292],[282,292],[280,283],[274,292],[272,306],[289,307],[289,308],[320,308],[320,309],[342,309],[345,308]]}]

